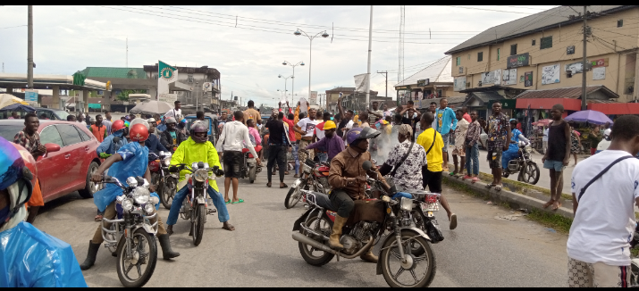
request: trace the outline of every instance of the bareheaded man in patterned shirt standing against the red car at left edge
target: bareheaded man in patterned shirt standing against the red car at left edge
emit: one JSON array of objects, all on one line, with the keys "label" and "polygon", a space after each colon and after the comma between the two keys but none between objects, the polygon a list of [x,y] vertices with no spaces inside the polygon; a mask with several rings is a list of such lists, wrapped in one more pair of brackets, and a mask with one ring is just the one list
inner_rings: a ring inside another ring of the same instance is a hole
[{"label": "bareheaded man in patterned shirt standing against the red car at left edge", "polygon": [[[38,134],[39,127],[40,121],[38,120],[38,115],[35,113],[27,113],[27,115],[24,116],[24,129],[13,137],[13,143],[24,147],[36,161],[39,156],[46,154],[45,145],[40,143],[40,134]],[[39,208],[44,205],[45,201],[42,199],[40,183],[38,179],[36,179],[36,183],[33,185],[33,195],[31,195],[31,199],[27,203],[27,206],[29,206],[27,222],[33,223],[33,221],[36,220]]]}]

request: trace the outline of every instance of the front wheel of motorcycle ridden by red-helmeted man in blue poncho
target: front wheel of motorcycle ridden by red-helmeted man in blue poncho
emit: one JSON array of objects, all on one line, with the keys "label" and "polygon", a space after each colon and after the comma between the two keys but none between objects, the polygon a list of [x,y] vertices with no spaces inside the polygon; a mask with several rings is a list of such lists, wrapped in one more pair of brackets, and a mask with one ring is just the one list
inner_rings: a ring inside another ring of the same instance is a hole
[{"label": "front wheel of motorcycle ridden by red-helmeted man in blue poncho", "polygon": [[[135,260],[127,260],[126,237],[122,237],[116,251],[118,254],[118,278],[124,287],[143,287],[151,279],[153,271],[156,270],[156,237],[151,236],[144,229],[137,229],[130,237],[130,247]],[[142,271],[143,265],[147,265],[144,271]],[[131,270],[134,272],[133,276],[130,276]]]}]

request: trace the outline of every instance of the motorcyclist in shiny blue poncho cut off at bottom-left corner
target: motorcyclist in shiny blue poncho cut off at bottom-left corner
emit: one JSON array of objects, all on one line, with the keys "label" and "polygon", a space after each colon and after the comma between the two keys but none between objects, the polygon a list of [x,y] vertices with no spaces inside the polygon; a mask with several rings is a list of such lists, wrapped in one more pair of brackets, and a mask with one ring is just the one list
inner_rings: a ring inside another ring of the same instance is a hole
[{"label": "motorcyclist in shiny blue poncho cut off at bottom-left corner", "polygon": [[0,287],[87,287],[71,245],[23,221],[37,176],[31,154],[0,137]]}]

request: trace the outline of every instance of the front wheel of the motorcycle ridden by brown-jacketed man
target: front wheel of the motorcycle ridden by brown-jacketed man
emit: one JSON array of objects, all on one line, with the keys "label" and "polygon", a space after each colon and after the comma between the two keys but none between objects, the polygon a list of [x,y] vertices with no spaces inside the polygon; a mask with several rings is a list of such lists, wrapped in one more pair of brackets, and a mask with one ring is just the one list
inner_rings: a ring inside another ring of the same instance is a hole
[{"label": "front wheel of the motorcycle ridden by brown-jacketed man", "polygon": [[[383,245],[380,264],[383,277],[390,287],[428,287],[435,278],[437,268],[431,245],[424,237],[413,237],[415,232],[401,231],[401,244],[410,258],[405,264],[400,261],[399,247],[394,238],[387,240]],[[412,241],[424,248],[425,253],[419,256],[411,254]]]}]

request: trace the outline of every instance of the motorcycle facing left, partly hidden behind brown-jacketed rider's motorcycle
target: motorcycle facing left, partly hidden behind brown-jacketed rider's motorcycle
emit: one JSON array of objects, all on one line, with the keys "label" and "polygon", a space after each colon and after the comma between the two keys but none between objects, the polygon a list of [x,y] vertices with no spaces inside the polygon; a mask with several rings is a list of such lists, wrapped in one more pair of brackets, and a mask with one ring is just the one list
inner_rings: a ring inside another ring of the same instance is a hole
[{"label": "motorcycle facing left, partly hidden behind brown-jacketed rider's motorcycle", "polygon": [[328,162],[313,162],[308,159],[300,163],[301,175],[290,186],[289,193],[284,199],[286,209],[295,207],[302,199],[306,202],[305,192],[302,190],[312,190],[328,194],[331,186],[328,185],[328,175],[330,164]]}]

